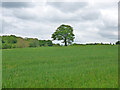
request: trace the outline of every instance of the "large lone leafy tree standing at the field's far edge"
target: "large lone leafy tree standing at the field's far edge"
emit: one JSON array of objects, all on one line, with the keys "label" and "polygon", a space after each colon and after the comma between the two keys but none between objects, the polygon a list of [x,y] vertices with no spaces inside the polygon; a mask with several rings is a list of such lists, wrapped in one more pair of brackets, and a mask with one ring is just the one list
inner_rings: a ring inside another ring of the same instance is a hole
[{"label": "large lone leafy tree standing at the field's far edge", "polygon": [[63,40],[65,46],[71,44],[74,41],[75,35],[73,34],[73,28],[69,25],[62,24],[52,34],[53,40]]}]

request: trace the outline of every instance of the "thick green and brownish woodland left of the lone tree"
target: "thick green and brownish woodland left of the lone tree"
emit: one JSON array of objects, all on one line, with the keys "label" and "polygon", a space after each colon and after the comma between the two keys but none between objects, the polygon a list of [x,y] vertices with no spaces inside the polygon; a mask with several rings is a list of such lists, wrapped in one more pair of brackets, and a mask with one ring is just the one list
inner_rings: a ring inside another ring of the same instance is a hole
[{"label": "thick green and brownish woodland left of the lone tree", "polygon": [[53,46],[51,40],[38,40],[37,38],[22,38],[14,35],[0,36],[2,38],[2,49],[10,48],[26,48],[26,47],[42,47]]}]

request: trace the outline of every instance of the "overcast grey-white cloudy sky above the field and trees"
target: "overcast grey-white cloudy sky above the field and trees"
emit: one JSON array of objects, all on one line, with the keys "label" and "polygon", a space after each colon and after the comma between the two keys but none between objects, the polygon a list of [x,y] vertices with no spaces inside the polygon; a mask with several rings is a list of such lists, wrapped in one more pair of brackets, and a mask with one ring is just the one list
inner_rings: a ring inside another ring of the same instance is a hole
[{"label": "overcast grey-white cloudy sky above the field and trees", "polygon": [[74,43],[118,40],[118,0],[7,0],[0,9],[0,35],[52,40],[57,27],[66,24],[73,27]]}]

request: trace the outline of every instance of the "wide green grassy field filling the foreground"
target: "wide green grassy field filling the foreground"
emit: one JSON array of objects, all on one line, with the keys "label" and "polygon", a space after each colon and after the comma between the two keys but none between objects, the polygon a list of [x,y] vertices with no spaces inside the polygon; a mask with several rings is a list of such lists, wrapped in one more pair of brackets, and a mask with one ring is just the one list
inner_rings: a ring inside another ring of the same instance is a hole
[{"label": "wide green grassy field filling the foreground", "polygon": [[117,88],[118,46],[3,50],[3,88]]}]

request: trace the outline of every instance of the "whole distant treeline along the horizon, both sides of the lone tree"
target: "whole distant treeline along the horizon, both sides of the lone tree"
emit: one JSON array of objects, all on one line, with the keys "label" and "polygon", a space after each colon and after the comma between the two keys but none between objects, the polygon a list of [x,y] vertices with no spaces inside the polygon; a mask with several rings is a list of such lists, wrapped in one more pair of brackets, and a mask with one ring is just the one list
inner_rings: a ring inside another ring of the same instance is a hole
[{"label": "whole distant treeline along the horizon, both sides of the lone tree", "polygon": [[[26,48],[26,47],[46,47],[46,46],[60,46],[60,44],[53,44],[51,40],[38,40],[37,38],[22,38],[16,37],[15,35],[0,36],[0,48]],[[71,44],[70,46],[81,46],[81,45],[120,45],[120,41],[115,44],[111,43],[87,43],[87,44]]]}]

